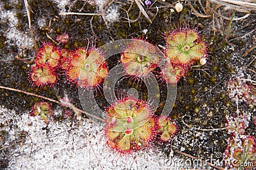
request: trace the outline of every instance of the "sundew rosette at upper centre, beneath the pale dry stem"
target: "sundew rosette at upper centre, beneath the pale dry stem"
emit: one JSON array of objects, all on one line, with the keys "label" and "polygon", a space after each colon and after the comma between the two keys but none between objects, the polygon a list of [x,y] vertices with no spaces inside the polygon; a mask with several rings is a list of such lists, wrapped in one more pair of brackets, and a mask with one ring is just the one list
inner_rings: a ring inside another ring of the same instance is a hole
[{"label": "sundew rosette at upper centre, beneath the pale dry stem", "polygon": [[143,42],[134,39],[121,55],[120,61],[125,66],[125,72],[129,75],[147,76],[157,67],[159,55],[157,55],[156,46]]}]

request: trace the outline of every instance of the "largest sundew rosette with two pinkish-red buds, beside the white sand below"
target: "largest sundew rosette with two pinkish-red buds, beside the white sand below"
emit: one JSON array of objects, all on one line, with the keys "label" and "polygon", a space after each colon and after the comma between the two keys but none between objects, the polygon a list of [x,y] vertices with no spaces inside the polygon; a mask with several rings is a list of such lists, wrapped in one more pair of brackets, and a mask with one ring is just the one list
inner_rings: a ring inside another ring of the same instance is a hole
[{"label": "largest sundew rosette with two pinkish-red buds, beside the white sand below", "polygon": [[107,110],[107,143],[120,153],[130,153],[149,146],[156,131],[150,107],[139,99],[126,97]]}]

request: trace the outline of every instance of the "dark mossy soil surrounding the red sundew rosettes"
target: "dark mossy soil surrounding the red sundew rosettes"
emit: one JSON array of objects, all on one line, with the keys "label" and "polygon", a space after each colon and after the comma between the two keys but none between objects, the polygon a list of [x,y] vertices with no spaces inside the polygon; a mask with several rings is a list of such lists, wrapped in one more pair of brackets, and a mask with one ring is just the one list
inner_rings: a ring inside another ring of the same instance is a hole
[{"label": "dark mossy soil surrounding the red sundew rosettes", "polygon": [[[131,2],[121,1],[125,4],[118,4],[120,8],[128,10]],[[174,1],[167,1],[166,3],[173,3]],[[28,18],[26,16],[26,9],[24,7],[24,1],[3,1],[4,11],[15,10],[16,17],[19,19],[17,29],[20,31],[28,30]],[[70,11],[82,12],[82,13],[97,13],[97,6],[86,3],[84,1],[70,1],[72,4],[66,7],[66,10],[70,8]],[[231,78],[236,78],[239,71],[243,71],[244,74],[252,76],[253,80],[256,80],[256,75],[248,68],[255,69],[255,49],[248,52],[248,50],[255,45],[255,15],[251,15],[244,20],[233,21],[229,28],[230,33],[225,34],[228,29],[228,20],[223,20],[223,25],[220,27],[216,25],[216,31],[212,29],[212,17],[200,18],[196,17],[191,11],[189,6],[184,6],[184,9],[180,12],[172,13],[172,22],[170,22],[170,8],[159,8],[159,11],[152,21],[152,24],[148,22],[142,14],[136,22],[132,22],[131,27],[128,22],[124,22],[123,18],[120,21],[111,23],[106,26],[101,16],[83,16],[83,15],[68,15],[62,16],[57,4],[52,1],[40,1],[31,0],[29,1],[31,6],[31,20],[33,33],[35,36],[36,44],[40,47],[42,43],[51,41],[47,38],[46,33],[51,38],[56,39],[56,36],[67,33],[70,36],[70,41],[65,45],[60,45],[61,48],[67,48],[68,50],[74,50],[80,46],[87,46],[88,40],[90,45],[99,47],[108,43],[111,40],[117,39],[129,39],[139,38],[147,39],[148,42],[154,45],[164,46],[164,32],[173,29],[173,25],[191,25],[190,27],[197,27],[205,43],[208,46],[208,60],[205,66],[193,67],[185,78],[182,78],[177,83],[177,99],[175,106],[170,113],[171,117],[179,127],[179,132],[176,138],[172,141],[172,147],[175,150],[180,148],[186,148],[185,153],[193,155],[195,157],[207,158],[214,155],[216,152],[223,153],[227,145],[228,134],[226,131],[195,131],[189,129],[183,124],[182,118],[186,124],[199,129],[212,129],[212,128],[223,128],[226,123],[226,116],[233,115],[236,113],[236,103],[231,101],[228,97],[226,85],[227,81]],[[84,5],[84,6],[83,6]],[[200,12],[202,9],[200,5],[193,2],[194,8]],[[83,6],[83,10],[79,11]],[[156,13],[156,6],[164,6],[163,3],[156,2],[154,8],[148,8],[147,10],[151,13]],[[222,15],[231,15],[231,11],[224,11],[220,8]],[[127,18],[127,13],[120,9],[120,17]],[[129,11],[129,18],[134,20],[138,17],[140,10],[136,3],[133,3],[131,10]],[[203,13],[203,12],[202,12]],[[236,12],[236,17],[243,16],[244,13]],[[52,31],[42,30],[38,27],[37,23],[42,17],[49,22],[51,20]],[[152,18],[152,17],[151,17]],[[92,19],[92,28],[90,20]],[[216,20],[221,22],[220,17]],[[95,37],[93,35],[95,32]],[[143,34],[143,29],[148,29],[147,35]],[[254,30],[254,31],[253,31]],[[58,76],[58,83],[53,87],[36,87],[31,83],[29,79],[29,72],[31,71],[31,65],[33,59],[22,60],[22,58],[28,58],[35,56],[36,46],[30,48],[19,49],[19,46],[9,45],[6,43],[4,34],[8,31],[8,20],[0,21],[0,85],[5,87],[12,87],[14,89],[20,89],[27,92],[33,92],[40,94],[45,97],[58,100],[63,96],[64,92],[67,92],[72,103],[78,108],[81,108],[79,104],[79,97],[77,95],[77,87],[70,85],[65,79],[65,74],[61,73]],[[251,33],[249,33],[251,32]],[[29,34],[29,33],[28,33]],[[247,35],[246,35],[247,34]],[[246,36],[245,36],[246,35]],[[31,36],[31,35],[29,35]],[[246,53],[248,52],[248,53]],[[245,55],[244,55],[245,54]],[[17,57],[18,56],[18,57]],[[115,66],[118,63],[120,56],[113,56],[108,60],[109,66]],[[250,62],[252,62],[250,64]],[[248,65],[250,64],[250,65]],[[28,67],[29,65],[29,67]],[[159,83],[161,86],[161,101],[164,101],[164,95],[166,95],[164,89],[164,83]],[[129,89],[132,85],[129,84],[129,80],[118,81],[116,84],[116,92],[120,89]],[[147,91],[145,85],[134,87],[140,92]],[[102,94],[102,92],[98,92]],[[100,100],[99,105],[102,110],[108,106],[104,99]],[[147,94],[142,94],[141,98],[147,98]],[[10,110],[15,110],[19,114],[28,113],[31,110],[31,106],[36,101],[41,101],[38,97],[27,96],[18,92],[10,90],[0,89],[0,105],[5,106]],[[56,108],[56,104],[53,104],[53,108]],[[163,106],[159,106],[161,111]],[[256,113],[253,112],[252,108],[241,103],[239,106],[244,112],[251,112],[253,116]],[[64,109],[63,109],[64,112]],[[59,121],[60,118],[56,118]],[[0,124],[0,128],[3,127]],[[198,134],[200,132],[200,134]],[[8,138],[6,132],[0,131],[0,139]],[[8,132],[7,132],[8,133]],[[250,124],[246,129],[246,134],[255,136],[255,124]],[[204,138],[200,136],[204,135]],[[1,144],[1,143],[0,143]],[[156,144],[157,145],[157,144]],[[170,153],[170,145],[159,145],[163,152],[168,155]],[[1,145],[0,145],[1,148]],[[6,150],[6,154],[10,154],[9,150]],[[6,167],[7,158],[5,155],[0,153],[0,169]],[[8,161],[7,161],[8,162]]]}]

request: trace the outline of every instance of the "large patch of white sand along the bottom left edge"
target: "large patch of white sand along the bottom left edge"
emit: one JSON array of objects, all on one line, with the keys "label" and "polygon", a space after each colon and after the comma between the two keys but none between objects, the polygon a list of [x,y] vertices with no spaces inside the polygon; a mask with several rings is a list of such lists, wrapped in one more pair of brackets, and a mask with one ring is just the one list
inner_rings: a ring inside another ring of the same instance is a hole
[{"label": "large patch of white sand along the bottom left edge", "polygon": [[[47,133],[39,117],[30,117],[29,113],[19,117],[3,106],[0,120],[2,124],[13,120],[2,129],[10,135],[4,145],[15,140],[18,132],[28,132],[23,146],[13,150],[8,169],[174,169],[154,146],[130,155],[113,152],[106,146],[104,131],[90,122],[83,122],[69,133],[70,120],[58,123],[50,119]],[[17,127],[11,129],[14,124]]]}]

